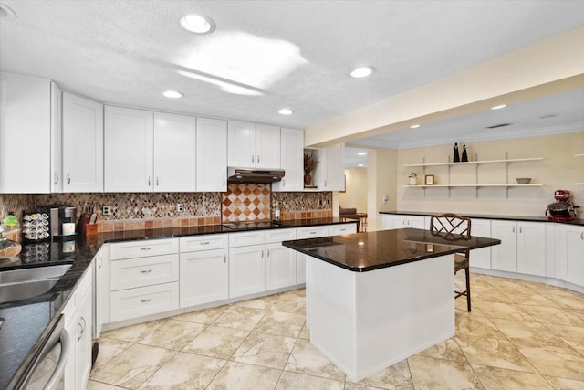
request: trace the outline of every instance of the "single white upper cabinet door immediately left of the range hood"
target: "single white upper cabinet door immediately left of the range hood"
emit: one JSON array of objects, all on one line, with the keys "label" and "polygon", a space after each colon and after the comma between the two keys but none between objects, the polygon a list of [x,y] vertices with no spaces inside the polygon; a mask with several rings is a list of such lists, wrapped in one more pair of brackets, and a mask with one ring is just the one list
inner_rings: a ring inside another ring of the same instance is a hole
[{"label": "single white upper cabinet door immediately left of the range hood", "polygon": [[197,118],[197,191],[227,191],[227,121]]}]

